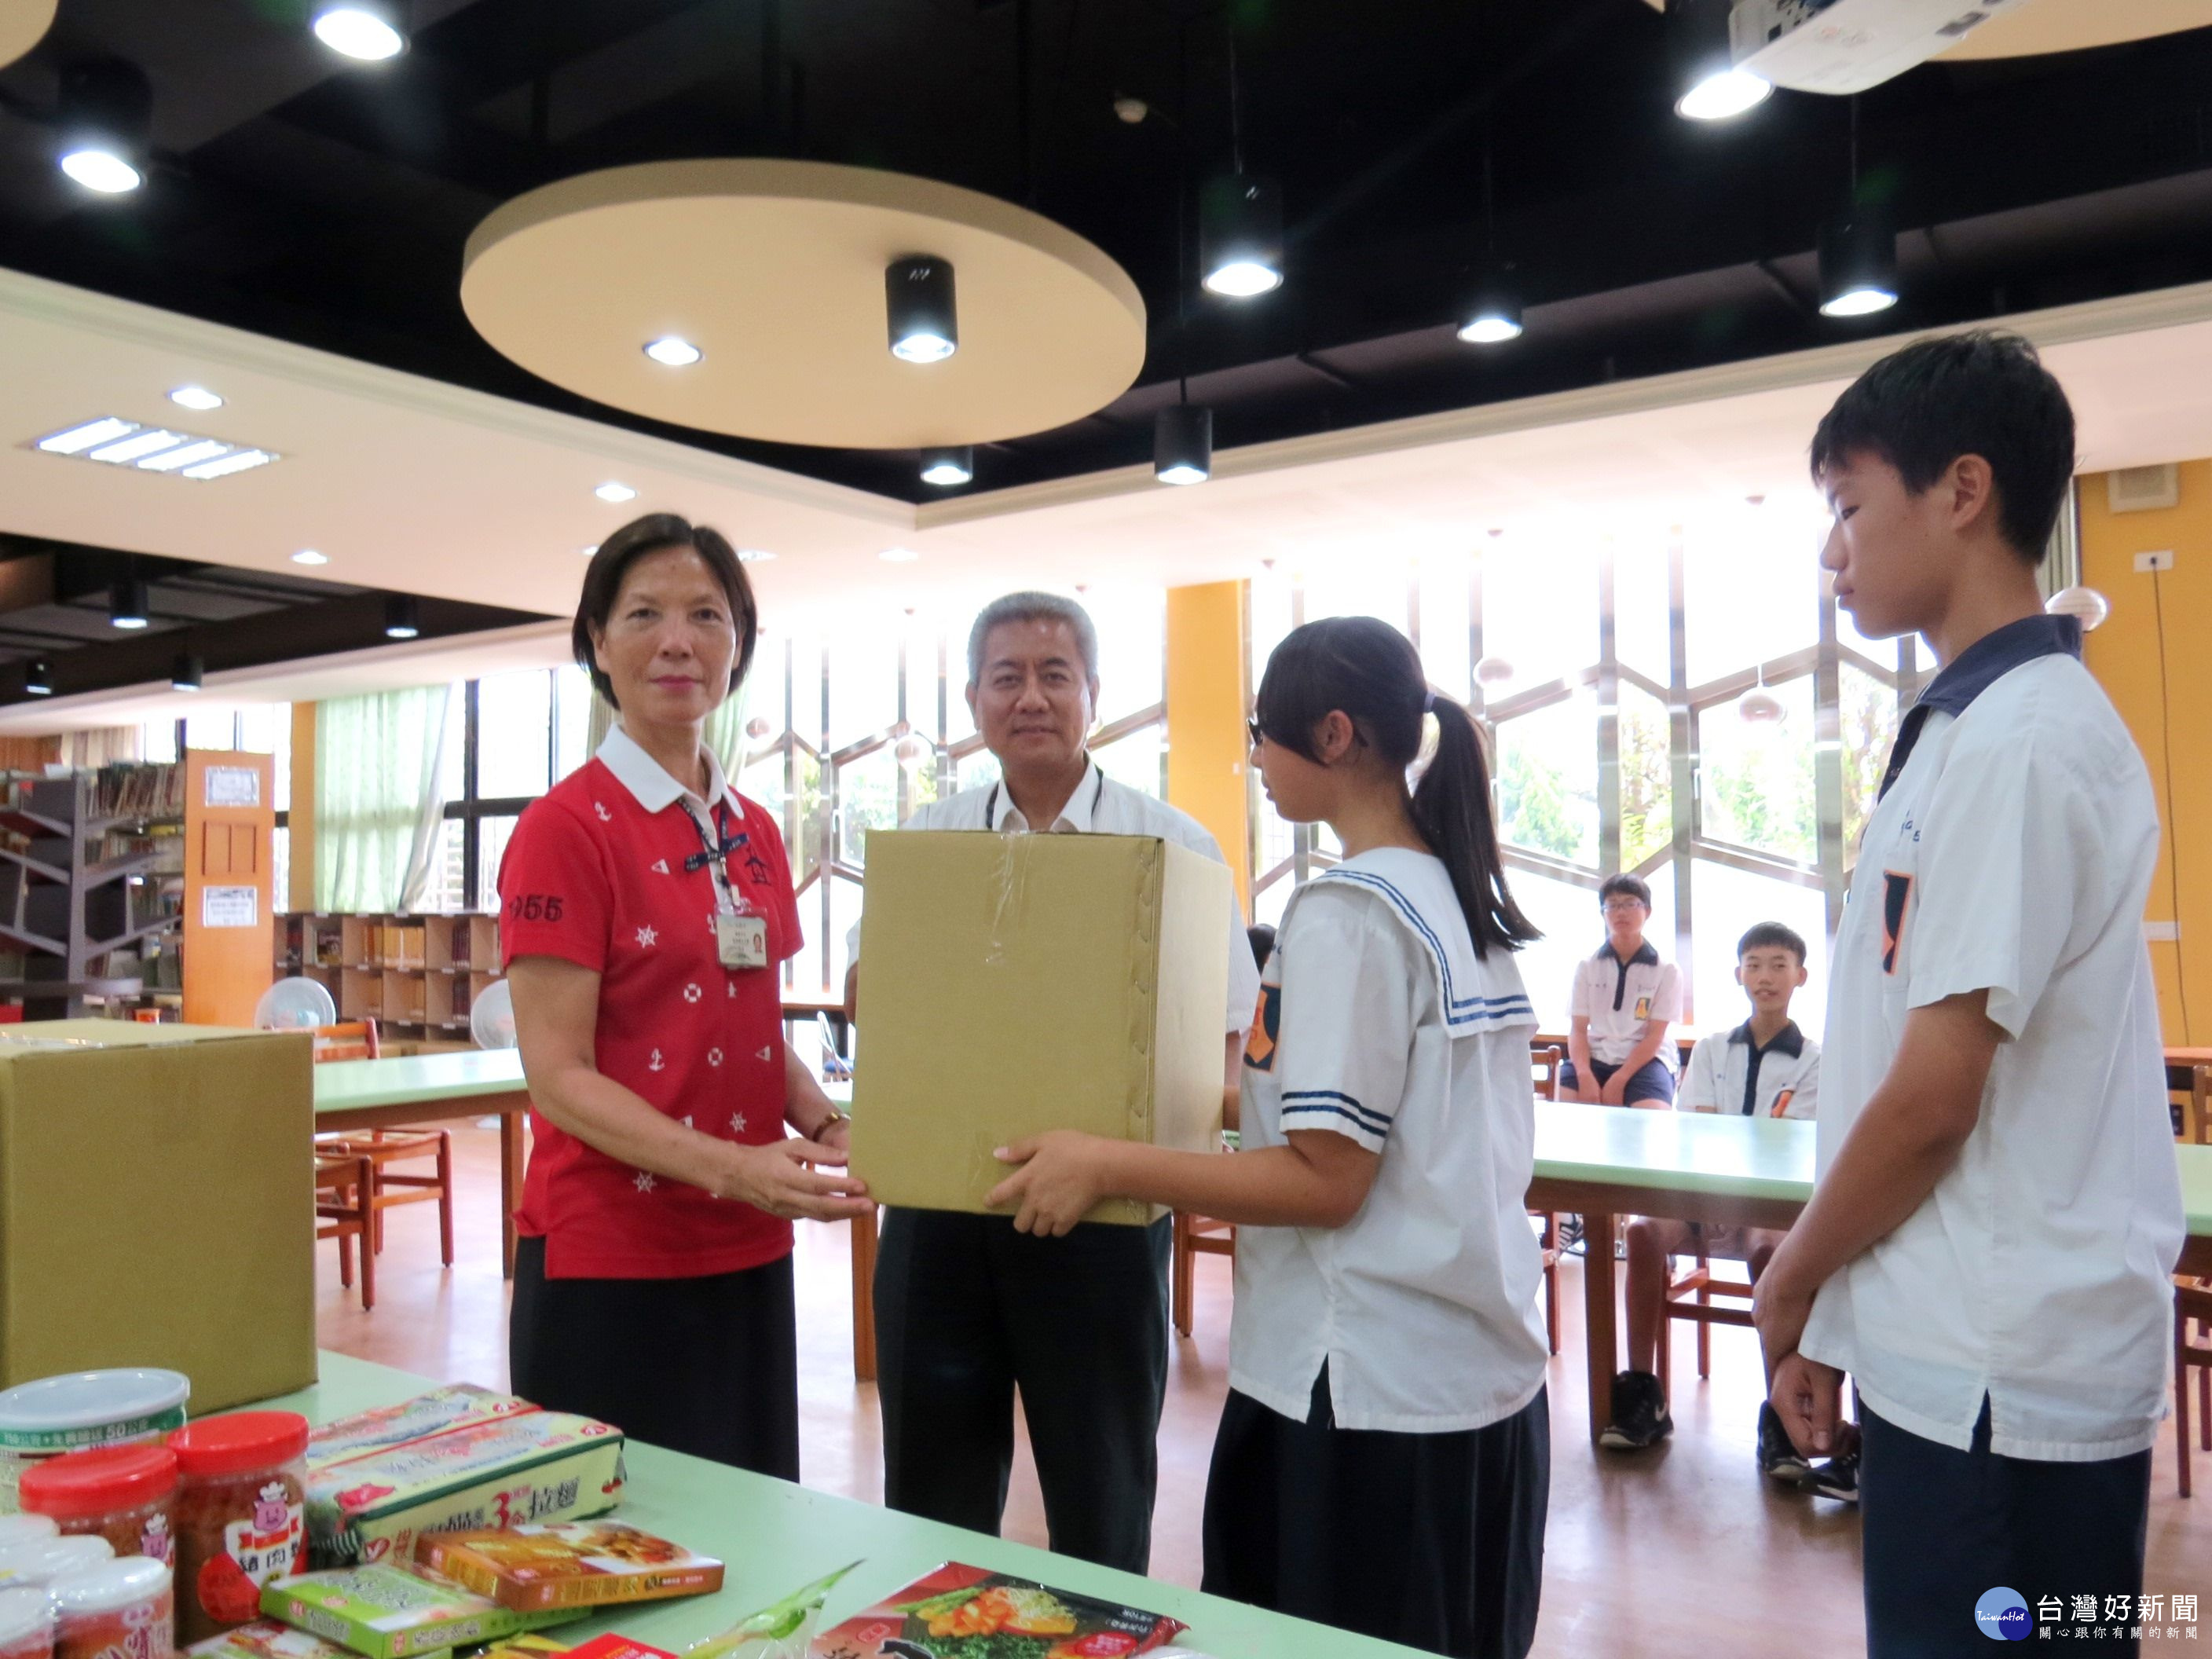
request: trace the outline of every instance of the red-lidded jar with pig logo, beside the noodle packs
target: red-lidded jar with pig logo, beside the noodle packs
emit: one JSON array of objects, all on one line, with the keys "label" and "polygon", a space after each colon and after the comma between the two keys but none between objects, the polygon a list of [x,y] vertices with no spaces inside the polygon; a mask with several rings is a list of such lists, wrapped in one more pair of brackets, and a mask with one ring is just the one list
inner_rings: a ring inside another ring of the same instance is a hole
[{"label": "red-lidded jar with pig logo, beside the noodle packs", "polygon": [[177,1639],[261,1617],[261,1586],[307,1566],[307,1418],[232,1411],[188,1422],[177,1453]]}]

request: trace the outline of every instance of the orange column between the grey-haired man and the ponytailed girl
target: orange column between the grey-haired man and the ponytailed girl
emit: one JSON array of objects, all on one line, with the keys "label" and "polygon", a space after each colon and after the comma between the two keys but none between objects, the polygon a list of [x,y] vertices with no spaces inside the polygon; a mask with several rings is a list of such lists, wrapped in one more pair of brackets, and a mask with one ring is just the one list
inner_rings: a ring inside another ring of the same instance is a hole
[{"label": "orange column between the grey-haired man and the ponytailed girl", "polygon": [[1168,803],[1203,823],[1252,914],[1245,584],[1168,588]]}]

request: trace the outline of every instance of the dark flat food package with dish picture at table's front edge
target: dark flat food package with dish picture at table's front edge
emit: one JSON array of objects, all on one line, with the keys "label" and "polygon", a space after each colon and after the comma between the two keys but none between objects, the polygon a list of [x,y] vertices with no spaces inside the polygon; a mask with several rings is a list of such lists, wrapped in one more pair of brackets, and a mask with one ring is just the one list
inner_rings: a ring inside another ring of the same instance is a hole
[{"label": "dark flat food package with dish picture at table's front edge", "polygon": [[949,1562],[814,1637],[812,1659],[1130,1659],[1188,1626]]}]

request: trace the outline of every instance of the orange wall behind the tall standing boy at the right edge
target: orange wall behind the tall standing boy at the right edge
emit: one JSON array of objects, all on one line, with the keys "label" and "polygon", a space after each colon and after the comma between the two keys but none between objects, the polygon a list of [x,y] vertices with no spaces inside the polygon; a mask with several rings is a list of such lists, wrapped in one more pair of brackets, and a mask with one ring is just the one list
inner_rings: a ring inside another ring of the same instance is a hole
[{"label": "orange wall behind the tall standing boy at the right edge", "polygon": [[[2139,573],[2137,553],[2174,568]],[[2212,1042],[2212,460],[2183,462],[2179,504],[2148,513],[2110,511],[2104,473],[2084,473],[2081,582],[2112,606],[2084,659],[2143,750],[2166,827],[2143,909],[2166,1042]]]}]

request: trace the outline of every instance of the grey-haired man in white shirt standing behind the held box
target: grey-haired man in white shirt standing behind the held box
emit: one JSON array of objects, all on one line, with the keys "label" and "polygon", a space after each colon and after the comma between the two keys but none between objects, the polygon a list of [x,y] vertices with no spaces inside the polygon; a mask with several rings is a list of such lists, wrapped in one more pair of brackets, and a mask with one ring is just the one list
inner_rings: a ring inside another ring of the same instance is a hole
[{"label": "grey-haired man in white shirt standing behind the held box", "polygon": [[[1002,779],[936,801],[905,827],[1159,836],[1219,863],[1221,847],[1190,814],[1115,783],[1091,759],[1097,686],[1097,633],[1079,604],[1051,593],[993,599],[969,635],[967,697]],[[1234,1075],[1259,1004],[1234,896],[1221,949],[1223,1062]],[[1170,1250],[1168,1219],[1046,1239],[1018,1234],[1011,1217],[885,1210],[876,1256],[885,1504],[995,1533],[1020,1389],[1053,1548],[1144,1573],[1168,1389]]]}]

